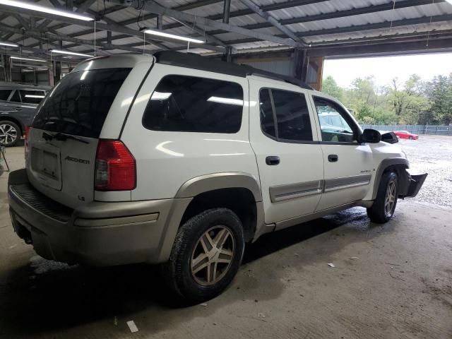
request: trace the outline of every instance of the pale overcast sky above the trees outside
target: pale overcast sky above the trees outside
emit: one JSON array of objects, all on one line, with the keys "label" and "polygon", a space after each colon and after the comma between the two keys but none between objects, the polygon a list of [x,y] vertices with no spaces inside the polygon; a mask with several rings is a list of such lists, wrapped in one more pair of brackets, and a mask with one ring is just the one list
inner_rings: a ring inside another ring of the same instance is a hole
[{"label": "pale overcast sky above the trees outside", "polygon": [[340,87],[347,88],[355,78],[374,76],[377,85],[389,85],[393,78],[404,82],[416,73],[425,80],[452,73],[452,53],[405,55],[355,59],[325,59],[323,78],[333,76]]}]

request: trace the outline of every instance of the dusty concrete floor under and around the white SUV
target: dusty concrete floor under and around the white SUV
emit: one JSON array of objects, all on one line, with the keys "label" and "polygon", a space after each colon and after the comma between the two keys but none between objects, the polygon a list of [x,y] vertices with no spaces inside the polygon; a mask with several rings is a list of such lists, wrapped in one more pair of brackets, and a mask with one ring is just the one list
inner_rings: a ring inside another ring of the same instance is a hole
[{"label": "dusty concrete floor under and around the white SUV", "polygon": [[[23,166],[23,148],[7,157]],[[450,207],[399,201],[383,226],[353,208],[266,234],[220,297],[180,307],[155,267],[36,256],[11,229],[6,173],[0,199],[2,339],[452,338]]]}]

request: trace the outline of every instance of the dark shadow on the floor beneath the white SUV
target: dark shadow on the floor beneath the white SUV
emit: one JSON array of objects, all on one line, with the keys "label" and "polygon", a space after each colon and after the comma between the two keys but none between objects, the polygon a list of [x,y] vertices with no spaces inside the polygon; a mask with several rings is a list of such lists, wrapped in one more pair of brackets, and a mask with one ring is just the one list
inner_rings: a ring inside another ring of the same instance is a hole
[{"label": "dark shadow on the floor beneath the white SUV", "polygon": [[[359,210],[265,234],[256,243],[246,246],[244,265],[350,221],[361,225],[359,227],[374,227],[365,212]],[[332,254],[337,250],[331,246]],[[314,262],[315,258],[304,260]],[[174,300],[162,281],[158,266],[82,268],[35,256],[29,265],[7,274],[7,284],[0,285],[0,337],[6,335],[5,338],[11,338],[8,334],[14,333],[28,338],[28,335],[47,331],[61,331],[105,319],[110,321],[115,316],[128,318],[143,311],[149,313],[154,323],[158,322],[163,327],[165,323],[171,326],[171,321],[177,319],[188,321],[199,316],[197,309],[180,311],[186,305]],[[273,297],[279,295],[283,288],[283,285],[276,288]],[[218,307],[226,299],[239,298],[234,290],[225,293],[230,293],[232,298],[222,299],[217,303]]]}]

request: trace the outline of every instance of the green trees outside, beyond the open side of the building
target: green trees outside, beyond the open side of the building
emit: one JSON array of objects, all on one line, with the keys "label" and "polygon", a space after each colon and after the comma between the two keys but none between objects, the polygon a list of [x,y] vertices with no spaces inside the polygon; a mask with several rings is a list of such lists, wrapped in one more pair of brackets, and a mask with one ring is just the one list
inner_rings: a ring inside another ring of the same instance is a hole
[{"label": "green trees outside, beyond the open side of the building", "polygon": [[368,76],[356,78],[350,88],[340,88],[328,76],[322,90],[342,101],[362,124],[452,123],[452,73],[432,81],[412,74],[405,83],[394,78],[383,87]]}]

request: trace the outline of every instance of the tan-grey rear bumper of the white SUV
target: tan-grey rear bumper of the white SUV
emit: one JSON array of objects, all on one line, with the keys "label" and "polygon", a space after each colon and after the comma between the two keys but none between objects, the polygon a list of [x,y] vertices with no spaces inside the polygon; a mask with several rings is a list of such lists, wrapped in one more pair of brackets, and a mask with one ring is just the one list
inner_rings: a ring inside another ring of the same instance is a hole
[{"label": "tan-grey rear bumper of the white SUV", "polygon": [[37,254],[66,263],[112,266],[166,261],[191,198],[93,201],[71,210],[11,172],[8,200],[14,230]]}]

